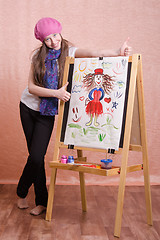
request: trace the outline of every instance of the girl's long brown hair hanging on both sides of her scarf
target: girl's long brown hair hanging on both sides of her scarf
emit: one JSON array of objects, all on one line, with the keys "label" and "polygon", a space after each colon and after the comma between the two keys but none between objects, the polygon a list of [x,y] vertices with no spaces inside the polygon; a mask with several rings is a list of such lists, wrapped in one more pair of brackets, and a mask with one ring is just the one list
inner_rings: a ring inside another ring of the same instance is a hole
[{"label": "girl's long brown hair hanging on both sides of her scarf", "polygon": [[[68,41],[62,38],[61,54],[60,54],[60,57],[58,58],[58,65],[59,65],[58,88],[62,86],[64,64],[65,64],[66,56],[68,56],[68,49],[69,49]],[[48,54],[49,48],[43,42],[42,46],[36,49],[35,51],[36,53],[32,57],[33,80],[36,85],[44,87],[43,79],[46,71],[45,58]]]}]

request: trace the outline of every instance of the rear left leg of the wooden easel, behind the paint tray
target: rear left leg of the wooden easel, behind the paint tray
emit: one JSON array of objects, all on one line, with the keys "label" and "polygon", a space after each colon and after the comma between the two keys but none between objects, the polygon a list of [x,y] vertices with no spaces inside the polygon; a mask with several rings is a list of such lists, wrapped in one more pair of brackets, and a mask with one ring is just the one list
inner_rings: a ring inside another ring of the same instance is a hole
[{"label": "rear left leg of the wooden easel, behind the paint tray", "polygon": [[[83,157],[82,150],[77,150],[77,156]],[[86,202],[86,190],[85,190],[85,179],[84,173],[79,172],[80,179],[80,188],[81,188],[81,202],[82,202],[82,210],[83,212],[87,211],[87,202]]]}]

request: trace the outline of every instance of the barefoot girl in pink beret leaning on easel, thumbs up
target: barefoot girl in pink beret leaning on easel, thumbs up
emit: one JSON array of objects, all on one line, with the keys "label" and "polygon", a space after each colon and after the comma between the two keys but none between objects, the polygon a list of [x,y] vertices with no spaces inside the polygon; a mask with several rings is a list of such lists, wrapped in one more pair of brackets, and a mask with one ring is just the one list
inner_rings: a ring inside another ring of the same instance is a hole
[{"label": "barefoot girl in pink beret leaning on easel, thumbs up", "polygon": [[58,99],[66,102],[70,93],[62,86],[65,57],[99,57],[129,55],[128,39],[119,50],[91,51],[77,49],[61,35],[62,26],[53,18],[40,19],[34,29],[36,39],[42,42],[35,51],[28,79],[28,88],[20,101],[20,116],[28,147],[28,159],[17,186],[18,207],[28,208],[27,194],[34,185],[36,207],[31,214],[41,214],[47,206],[47,187],[44,157],[47,151]]}]

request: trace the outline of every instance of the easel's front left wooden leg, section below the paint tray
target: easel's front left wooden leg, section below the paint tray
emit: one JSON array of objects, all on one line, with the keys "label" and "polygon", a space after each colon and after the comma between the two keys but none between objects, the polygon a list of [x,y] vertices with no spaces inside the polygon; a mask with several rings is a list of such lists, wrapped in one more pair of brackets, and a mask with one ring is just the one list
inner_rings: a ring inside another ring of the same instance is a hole
[{"label": "easel's front left wooden leg, section below the paint tray", "polygon": [[46,211],[46,220],[48,220],[48,221],[51,221],[51,218],[52,218],[52,209],[53,209],[53,200],[54,200],[54,192],[55,192],[56,173],[57,173],[57,169],[56,168],[52,169],[51,181],[50,181],[49,193],[48,193],[47,211]]}]

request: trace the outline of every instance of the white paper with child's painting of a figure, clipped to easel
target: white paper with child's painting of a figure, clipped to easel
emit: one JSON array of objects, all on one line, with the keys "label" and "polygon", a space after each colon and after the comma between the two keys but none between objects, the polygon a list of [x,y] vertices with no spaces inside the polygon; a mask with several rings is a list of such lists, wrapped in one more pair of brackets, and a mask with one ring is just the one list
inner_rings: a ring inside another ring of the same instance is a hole
[{"label": "white paper with child's painting of a figure, clipped to easel", "polygon": [[64,144],[119,148],[128,57],[76,58]]}]

